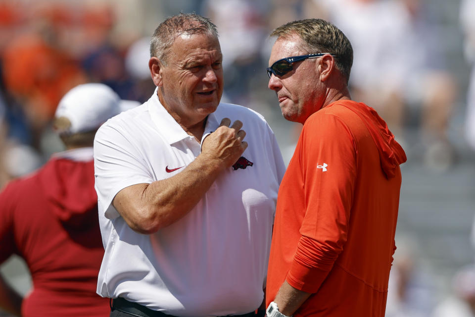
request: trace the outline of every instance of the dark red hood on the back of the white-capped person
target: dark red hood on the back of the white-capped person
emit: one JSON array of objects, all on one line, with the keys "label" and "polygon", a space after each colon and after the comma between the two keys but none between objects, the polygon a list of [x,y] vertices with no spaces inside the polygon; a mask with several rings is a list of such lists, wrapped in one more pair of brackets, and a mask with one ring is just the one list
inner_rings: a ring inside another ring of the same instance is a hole
[{"label": "dark red hood on the back of the white-capped person", "polygon": [[69,227],[97,222],[94,161],[53,157],[38,174],[49,209]]}]

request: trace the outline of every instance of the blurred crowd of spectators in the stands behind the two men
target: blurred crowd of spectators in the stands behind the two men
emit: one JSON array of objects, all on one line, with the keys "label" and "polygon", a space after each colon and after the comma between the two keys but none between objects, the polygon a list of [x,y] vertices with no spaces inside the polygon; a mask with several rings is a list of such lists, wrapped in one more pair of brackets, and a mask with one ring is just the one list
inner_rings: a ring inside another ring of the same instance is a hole
[{"label": "blurred crowd of spectators in the stands behind the two men", "polygon": [[[263,114],[280,114],[267,89],[269,32],[295,19],[332,21],[353,45],[352,98],[380,113],[408,163],[420,157],[444,171],[457,163],[450,134],[455,114],[464,118],[455,138],[475,150],[475,0],[449,2],[457,3],[456,34],[432,0],[0,0],[0,186],[62,150],[51,120],[72,87],[101,82],[122,99],[146,101],[154,90],[149,37],[158,21],[179,11],[195,11],[218,27],[223,100]],[[400,254],[391,272],[388,317],[475,316],[475,282],[466,283],[475,281],[472,268],[454,279],[465,315],[444,315],[428,278],[409,278],[417,267],[403,256],[409,253]]]}]

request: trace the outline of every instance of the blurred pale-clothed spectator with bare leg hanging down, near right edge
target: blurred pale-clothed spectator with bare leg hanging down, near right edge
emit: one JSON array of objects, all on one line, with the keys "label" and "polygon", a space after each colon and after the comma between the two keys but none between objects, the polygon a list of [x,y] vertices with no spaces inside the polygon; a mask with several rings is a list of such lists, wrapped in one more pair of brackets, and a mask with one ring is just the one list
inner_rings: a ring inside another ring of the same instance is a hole
[{"label": "blurred pale-clothed spectator with bare leg hanging down, near right edge", "polygon": [[[423,0],[401,0],[409,16],[404,101],[412,111],[406,116],[420,117],[424,162],[432,169],[445,170],[456,153],[448,129],[458,90],[458,79],[448,70],[446,45],[434,10]],[[406,107],[407,107],[406,106]],[[415,111],[414,111],[415,110]]]}]

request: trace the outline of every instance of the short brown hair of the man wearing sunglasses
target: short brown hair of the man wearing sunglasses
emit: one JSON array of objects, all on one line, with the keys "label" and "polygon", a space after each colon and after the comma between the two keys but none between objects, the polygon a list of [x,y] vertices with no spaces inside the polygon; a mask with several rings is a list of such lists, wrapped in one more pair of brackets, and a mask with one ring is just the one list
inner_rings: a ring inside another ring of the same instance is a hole
[{"label": "short brown hair of the man wearing sunglasses", "polygon": [[271,36],[289,38],[297,34],[305,43],[308,53],[332,53],[336,55],[336,68],[350,79],[353,65],[353,48],[348,38],[332,23],[322,19],[305,19],[288,22],[272,31]]}]

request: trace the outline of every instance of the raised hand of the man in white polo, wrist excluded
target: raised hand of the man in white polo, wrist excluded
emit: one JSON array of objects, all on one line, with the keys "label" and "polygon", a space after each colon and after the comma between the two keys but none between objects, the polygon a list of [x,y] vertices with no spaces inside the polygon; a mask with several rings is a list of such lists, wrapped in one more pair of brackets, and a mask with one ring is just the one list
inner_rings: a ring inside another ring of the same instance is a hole
[{"label": "raised hand of the man in white polo, wrist excluded", "polygon": [[236,163],[247,148],[247,142],[242,141],[246,136],[246,132],[240,130],[242,122],[236,120],[232,126],[230,124],[229,118],[221,120],[216,131],[208,135],[201,146],[201,155],[216,161],[222,169]]}]

